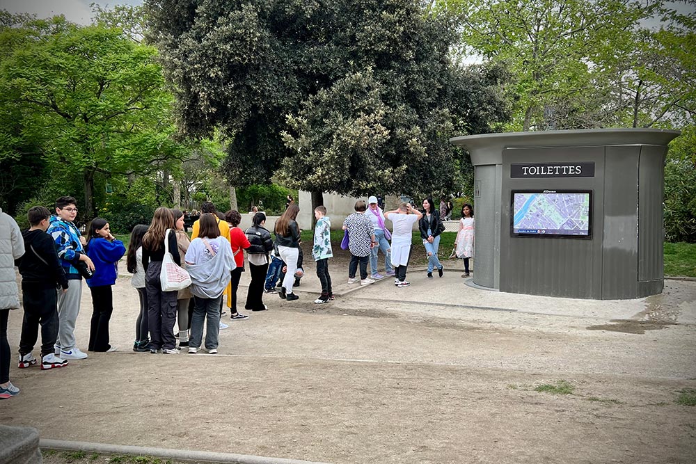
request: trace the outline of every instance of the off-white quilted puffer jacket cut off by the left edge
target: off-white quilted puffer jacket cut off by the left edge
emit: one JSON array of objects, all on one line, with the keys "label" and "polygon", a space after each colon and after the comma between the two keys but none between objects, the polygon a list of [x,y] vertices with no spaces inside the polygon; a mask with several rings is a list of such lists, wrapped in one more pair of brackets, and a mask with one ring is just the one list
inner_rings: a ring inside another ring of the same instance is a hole
[{"label": "off-white quilted puffer jacket cut off by the left edge", "polygon": [[24,255],[24,239],[15,220],[0,209],[0,310],[19,307],[15,259]]}]

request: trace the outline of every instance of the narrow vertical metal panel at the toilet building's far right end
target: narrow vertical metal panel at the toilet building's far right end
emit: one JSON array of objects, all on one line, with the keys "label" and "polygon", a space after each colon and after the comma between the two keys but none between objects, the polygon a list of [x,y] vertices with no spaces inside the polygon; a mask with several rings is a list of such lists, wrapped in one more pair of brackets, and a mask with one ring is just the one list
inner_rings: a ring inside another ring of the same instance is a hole
[{"label": "narrow vertical metal panel at the toilet building's far right end", "polygon": [[663,280],[665,147],[643,145],[638,179],[638,280]]}]

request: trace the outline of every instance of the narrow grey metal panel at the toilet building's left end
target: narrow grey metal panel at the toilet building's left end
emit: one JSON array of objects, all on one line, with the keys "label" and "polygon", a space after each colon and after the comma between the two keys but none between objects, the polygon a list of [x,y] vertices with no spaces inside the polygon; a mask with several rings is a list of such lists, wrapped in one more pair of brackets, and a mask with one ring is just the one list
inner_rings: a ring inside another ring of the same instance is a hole
[{"label": "narrow grey metal panel at the toilet building's left end", "polygon": [[[482,287],[498,289],[496,262],[500,257],[496,227],[500,234],[500,215],[496,214],[496,199],[500,186],[497,182],[496,165],[475,168],[474,218],[474,272],[473,282]],[[480,195],[477,197],[477,195]]]}]

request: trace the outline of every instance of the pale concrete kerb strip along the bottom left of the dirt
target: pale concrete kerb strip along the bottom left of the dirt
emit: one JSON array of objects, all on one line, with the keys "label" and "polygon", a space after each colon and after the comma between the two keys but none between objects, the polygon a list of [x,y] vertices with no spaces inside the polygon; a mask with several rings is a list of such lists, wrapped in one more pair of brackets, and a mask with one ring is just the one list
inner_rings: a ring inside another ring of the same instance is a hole
[{"label": "pale concrete kerb strip along the bottom left of the dirt", "polygon": [[107,443],[71,442],[67,440],[39,440],[41,449],[61,449],[67,451],[91,451],[103,454],[129,454],[134,456],[154,456],[157,458],[175,459],[177,461],[193,461],[226,464],[329,464],[314,461],[298,461],[296,459],[267,458],[246,454],[214,453],[211,451],[190,451],[186,449],[167,449],[151,447],[134,447],[129,445],[109,445]]}]

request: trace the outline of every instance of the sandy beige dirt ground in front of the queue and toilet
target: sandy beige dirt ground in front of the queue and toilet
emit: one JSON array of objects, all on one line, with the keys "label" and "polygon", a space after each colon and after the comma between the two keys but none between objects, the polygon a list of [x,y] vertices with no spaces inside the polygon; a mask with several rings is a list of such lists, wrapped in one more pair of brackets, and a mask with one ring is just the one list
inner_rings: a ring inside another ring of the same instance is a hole
[{"label": "sandy beige dirt ground in front of the queue and toilet", "polygon": [[[13,362],[22,392],[0,401],[0,422],[326,463],[696,462],[696,408],[677,401],[696,389],[696,282],[580,301],[473,289],[456,260],[441,279],[413,269],[406,289],[348,286],[333,264],[335,302],[312,303],[308,262],[299,301],[270,295],[269,311],[225,318],[218,355],[134,353],[138,299],[119,278],[121,350],[53,371]],[[245,297],[242,286],[240,307]],[[85,288],[82,349],[90,314]],[[11,312],[13,351],[20,325]]]}]

